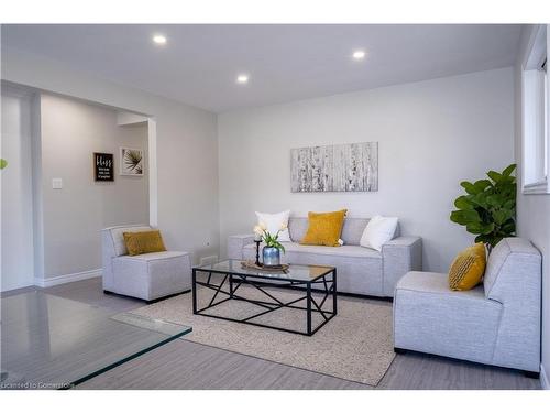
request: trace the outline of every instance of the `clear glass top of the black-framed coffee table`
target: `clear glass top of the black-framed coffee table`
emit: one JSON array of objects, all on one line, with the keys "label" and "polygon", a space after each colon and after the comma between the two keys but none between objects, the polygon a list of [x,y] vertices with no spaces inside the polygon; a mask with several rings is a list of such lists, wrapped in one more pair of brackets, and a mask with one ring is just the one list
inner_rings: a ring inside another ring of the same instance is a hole
[{"label": "clear glass top of the black-framed coffee table", "polygon": [[286,272],[274,272],[244,268],[241,260],[224,260],[213,264],[197,267],[196,269],[200,271],[231,272],[233,274],[251,275],[264,279],[299,281],[312,281],[334,270],[333,267],[290,264]]}]

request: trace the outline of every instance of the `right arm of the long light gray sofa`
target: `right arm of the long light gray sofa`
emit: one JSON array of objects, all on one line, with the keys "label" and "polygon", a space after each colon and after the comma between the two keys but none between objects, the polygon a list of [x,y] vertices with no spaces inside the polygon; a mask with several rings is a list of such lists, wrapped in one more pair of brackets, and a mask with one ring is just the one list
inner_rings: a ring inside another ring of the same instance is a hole
[{"label": "right arm of the long light gray sofa", "polygon": [[382,246],[383,291],[394,296],[395,285],[409,271],[422,270],[422,239],[404,236]]}]

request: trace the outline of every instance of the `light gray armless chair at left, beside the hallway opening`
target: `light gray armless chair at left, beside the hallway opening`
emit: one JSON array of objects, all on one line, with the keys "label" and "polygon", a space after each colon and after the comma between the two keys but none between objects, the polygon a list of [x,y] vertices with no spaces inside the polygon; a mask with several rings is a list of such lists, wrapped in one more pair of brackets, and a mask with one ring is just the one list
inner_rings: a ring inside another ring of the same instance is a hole
[{"label": "light gray armless chair at left, beside the hallway opening", "polygon": [[129,256],[123,232],[150,231],[146,225],[101,231],[103,291],[147,302],[188,291],[191,262],[187,252],[164,251]]}]

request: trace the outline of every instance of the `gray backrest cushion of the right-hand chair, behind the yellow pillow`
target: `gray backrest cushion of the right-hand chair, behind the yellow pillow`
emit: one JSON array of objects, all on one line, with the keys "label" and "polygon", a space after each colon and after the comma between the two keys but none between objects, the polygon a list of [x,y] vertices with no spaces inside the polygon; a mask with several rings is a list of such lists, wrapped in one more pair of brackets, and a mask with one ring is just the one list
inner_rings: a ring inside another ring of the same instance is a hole
[{"label": "gray backrest cushion of the right-hand chair, behind the yellow pillow", "polygon": [[520,291],[537,291],[541,278],[540,252],[526,239],[505,238],[487,259],[483,286],[487,298],[503,303]]}]

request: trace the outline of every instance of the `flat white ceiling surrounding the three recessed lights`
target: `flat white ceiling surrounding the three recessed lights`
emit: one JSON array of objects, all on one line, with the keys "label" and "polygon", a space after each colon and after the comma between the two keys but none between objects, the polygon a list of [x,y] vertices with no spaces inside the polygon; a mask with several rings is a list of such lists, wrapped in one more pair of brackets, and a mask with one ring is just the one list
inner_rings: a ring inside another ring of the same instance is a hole
[{"label": "flat white ceiling surrounding the three recessed lights", "polygon": [[[2,46],[216,112],[510,66],[520,25],[3,25]],[[153,44],[154,33],[168,39]],[[354,62],[351,54],[367,56]],[[239,73],[250,81],[235,83]]]}]

